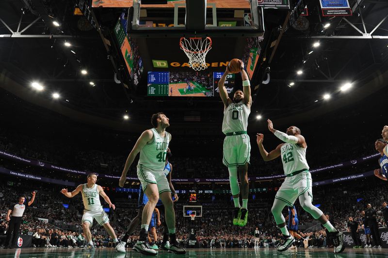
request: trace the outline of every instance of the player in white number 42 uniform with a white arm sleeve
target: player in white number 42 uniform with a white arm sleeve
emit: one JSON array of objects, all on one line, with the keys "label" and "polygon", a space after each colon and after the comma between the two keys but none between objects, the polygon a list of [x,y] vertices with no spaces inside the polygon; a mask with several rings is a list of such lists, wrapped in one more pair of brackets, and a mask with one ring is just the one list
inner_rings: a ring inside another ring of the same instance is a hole
[{"label": "player in white number 42 uniform with a white arm sleeve", "polygon": [[306,160],[307,143],[305,137],[301,135],[300,129],[296,126],[290,126],[286,133],[277,131],[269,119],[268,129],[284,142],[279,144],[275,150],[267,152],[263,147],[264,136],[257,134],[259,151],[264,161],[281,156],[284,174],[286,175],[286,179],[276,192],[274,205],[271,209],[275,222],[283,234],[283,242],[277,247],[277,251],[286,251],[295,242],[294,237],[286,228],[282,210],[285,206],[293,206],[295,200],[299,198],[302,208],[310,213],[314,219],[319,220],[323,227],[329,231],[329,236],[334,243],[334,253],[341,253],[345,249],[343,233],[334,228],[323,212],[311,203],[312,180]]}]

